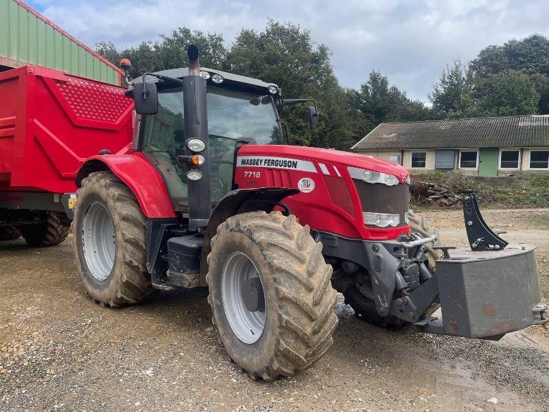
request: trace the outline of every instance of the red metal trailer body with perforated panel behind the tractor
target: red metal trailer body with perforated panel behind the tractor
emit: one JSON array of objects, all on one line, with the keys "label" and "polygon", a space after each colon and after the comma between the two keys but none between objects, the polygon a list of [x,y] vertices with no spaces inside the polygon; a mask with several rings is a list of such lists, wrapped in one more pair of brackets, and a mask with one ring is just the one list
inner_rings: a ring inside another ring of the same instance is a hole
[{"label": "red metal trailer body with perforated panel behind the tractor", "polygon": [[1,72],[0,193],[75,192],[86,158],[130,147],[132,109],[112,84],[32,65]]}]

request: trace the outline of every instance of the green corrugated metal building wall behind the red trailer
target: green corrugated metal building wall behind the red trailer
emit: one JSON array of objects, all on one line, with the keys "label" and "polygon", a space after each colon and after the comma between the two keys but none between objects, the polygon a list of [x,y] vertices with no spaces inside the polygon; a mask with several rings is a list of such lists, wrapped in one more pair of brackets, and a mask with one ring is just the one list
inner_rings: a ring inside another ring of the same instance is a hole
[{"label": "green corrugated metal building wall behind the red trailer", "polygon": [[0,0],[0,65],[38,65],[120,84],[121,69],[21,0]]}]

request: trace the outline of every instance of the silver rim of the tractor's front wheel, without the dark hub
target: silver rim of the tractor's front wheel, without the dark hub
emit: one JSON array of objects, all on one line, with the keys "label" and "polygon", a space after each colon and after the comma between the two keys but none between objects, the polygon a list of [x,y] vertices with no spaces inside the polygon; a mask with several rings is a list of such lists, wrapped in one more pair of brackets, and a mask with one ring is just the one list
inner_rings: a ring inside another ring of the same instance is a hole
[{"label": "silver rim of the tractor's front wheel, without the dark hub", "polygon": [[248,344],[257,342],[261,337],[267,310],[250,312],[246,308],[242,297],[242,284],[246,279],[258,276],[255,264],[242,252],[235,252],[229,256],[221,275],[221,297],[225,316],[237,338]]}]

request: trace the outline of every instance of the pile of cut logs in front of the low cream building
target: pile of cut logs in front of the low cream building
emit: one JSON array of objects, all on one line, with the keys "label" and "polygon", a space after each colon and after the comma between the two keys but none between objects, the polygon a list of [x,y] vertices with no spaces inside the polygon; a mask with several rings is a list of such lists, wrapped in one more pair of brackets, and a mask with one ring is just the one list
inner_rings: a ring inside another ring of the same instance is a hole
[{"label": "pile of cut logs in front of the low cream building", "polygon": [[412,181],[410,186],[410,201],[415,205],[433,207],[458,207],[463,194],[456,187],[444,183],[429,183]]}]

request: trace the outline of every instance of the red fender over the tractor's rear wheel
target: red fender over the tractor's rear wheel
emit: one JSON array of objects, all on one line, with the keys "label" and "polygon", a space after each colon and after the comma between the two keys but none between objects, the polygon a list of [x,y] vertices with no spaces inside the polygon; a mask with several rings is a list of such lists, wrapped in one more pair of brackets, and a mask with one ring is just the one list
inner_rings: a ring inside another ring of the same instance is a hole
[{"label": "red fender over the tractor's rear wheel", "polygon": [[110,170],[135,194],[148,218],[175,218],[164,181],[159,172],[140,152],[125,155],[97,155],[86,159],[76,175],[76,186],[90,173]]}]

